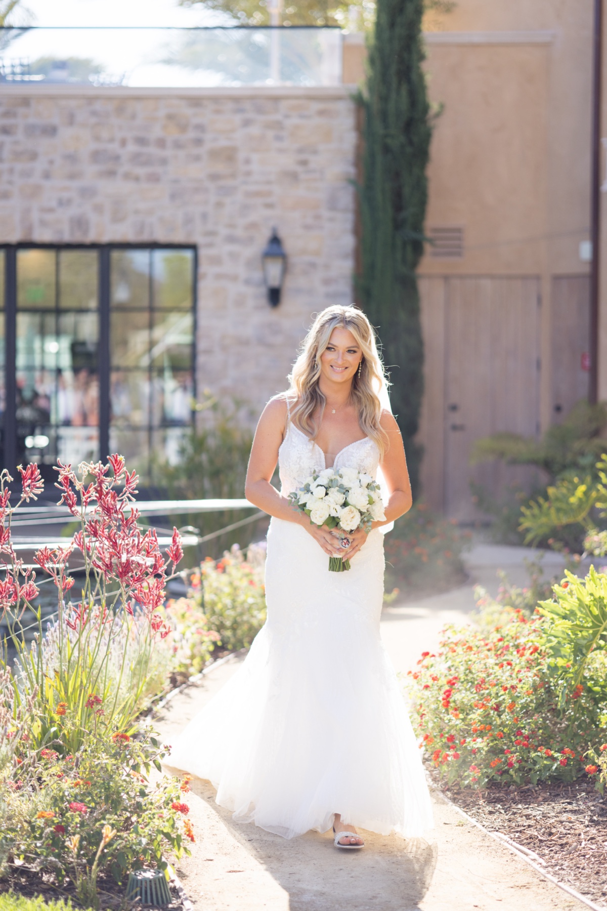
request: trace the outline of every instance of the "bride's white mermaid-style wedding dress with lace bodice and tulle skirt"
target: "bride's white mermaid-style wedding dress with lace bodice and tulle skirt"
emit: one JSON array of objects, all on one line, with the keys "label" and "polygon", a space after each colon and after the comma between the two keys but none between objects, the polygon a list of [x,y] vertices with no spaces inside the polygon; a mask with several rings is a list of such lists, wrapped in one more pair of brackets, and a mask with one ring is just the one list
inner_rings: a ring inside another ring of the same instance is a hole
[{"label": "bride's white mermaid-style wedding dress with lace bodice and tulle skirt", "polygon": [[[376,476],[377,445],[342,449],[336,467]],[[288,423],[282,493],[325,467]],[[272,518],[268,619],[248,657],[177,738],[167,766],[208,779],[240,822],[292,838],[342,823],[422,835],[430,795],[401,686],[379,638],[383,535],[374,530],[348,572],[304,528]]]}]

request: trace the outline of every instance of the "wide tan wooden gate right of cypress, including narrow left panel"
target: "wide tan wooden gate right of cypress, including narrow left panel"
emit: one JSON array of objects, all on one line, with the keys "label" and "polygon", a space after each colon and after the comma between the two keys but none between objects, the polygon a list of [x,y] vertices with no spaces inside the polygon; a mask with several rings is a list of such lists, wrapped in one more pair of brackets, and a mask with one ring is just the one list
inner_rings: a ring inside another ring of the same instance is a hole
[{"label": "wide tan wooden gate right of cypress, including narrow left panel", "polygon": [[526,469],[470,466],[474,440],[539,432],[540,281],[536,277],[422,277],[426,395],[420,438],[423,498],[463,522],[481,517],[470,491],[500,497]]}]

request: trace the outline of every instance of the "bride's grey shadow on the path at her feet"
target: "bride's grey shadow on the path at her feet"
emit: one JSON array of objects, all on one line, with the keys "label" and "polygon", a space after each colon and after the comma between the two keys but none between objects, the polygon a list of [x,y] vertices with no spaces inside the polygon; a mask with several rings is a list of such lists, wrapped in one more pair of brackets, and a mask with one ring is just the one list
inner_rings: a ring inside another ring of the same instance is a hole
[{"label": "bride's grey shadow on the path at her feet", "polygon": [[365,832],[367,849],[347,852],[333,846],[330,832],[285,839],[235,823],[208,782],[195,778],[190,787],[288,893],[289,911],[417,911],[430,887],[436,844]]}]

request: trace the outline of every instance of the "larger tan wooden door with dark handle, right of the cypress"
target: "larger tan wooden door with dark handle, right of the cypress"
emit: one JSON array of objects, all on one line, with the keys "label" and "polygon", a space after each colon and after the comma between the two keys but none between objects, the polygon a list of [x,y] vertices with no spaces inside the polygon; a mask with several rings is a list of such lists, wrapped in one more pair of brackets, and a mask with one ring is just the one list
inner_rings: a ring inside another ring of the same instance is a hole
[{"label": "larger tan wooden door with dark handle, right of the cypress", "polygon": [[470,481],[497,498],[525,483],[525,469],[470,466],[470,450],[499,431],[539,432],[539,307],[535,277],[446,279],[444,504],[459,521],[480,517]]}]

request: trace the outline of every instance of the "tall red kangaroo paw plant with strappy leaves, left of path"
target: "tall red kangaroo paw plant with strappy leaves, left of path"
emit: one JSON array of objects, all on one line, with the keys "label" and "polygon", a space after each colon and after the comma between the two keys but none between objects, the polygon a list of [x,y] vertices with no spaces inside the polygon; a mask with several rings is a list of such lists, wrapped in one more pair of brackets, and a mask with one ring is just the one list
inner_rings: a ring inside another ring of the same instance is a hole
[{"label": "tall red kangaroo paw plant with strappy leaves, left of path", "polygon": [[[134,506],[137,475],[126,470],[121,455],[110,455],[107,465],[83,463],[77,472],[59,462],[56,470],[59,504],[78,519],[80,530],[66,547],[36,552],[35,563],[56,585],[56,619],[43,635],[38,612],[39,628],[31,649],[16,634],[14,641],[21,668],[18,694],[26,698],[36,690],[44,707],[32,726],[34,745],[52,738],[60,744],[58,749],[76,752],[86,732],[126,729],[132,724],[145,689],[151,650],[170,632],[158,620],[157,609],[165,599],[169,570],[175,572],[183,550],[177,529],[165,558],[155,529],[139,527]],[[0,608],[22,611],[22,604],[32,607],[35,576],[26,575],[12,549],[7,483],[3,473],[0,551],[9,555],[13,568],[5,570],[8,601],[4,606],[0,600]],[[18,505],[42,490],[37,466],[22,471],[22,486]],[[69,561],[78,552],[84,560],[84,584],[76,599],[67,600],[75,585]],[[19,582],[21,575],[24,585]]]}]

